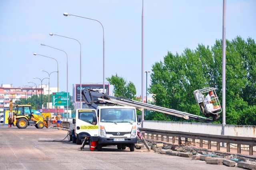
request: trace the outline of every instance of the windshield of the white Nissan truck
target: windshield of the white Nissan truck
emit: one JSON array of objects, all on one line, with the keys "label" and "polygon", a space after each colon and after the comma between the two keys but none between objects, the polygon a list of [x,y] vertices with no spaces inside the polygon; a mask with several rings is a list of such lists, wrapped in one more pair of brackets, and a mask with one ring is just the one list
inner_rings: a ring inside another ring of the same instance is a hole
[{"label": "windshield of the white Nissan truck", "polygon": [[102,108],[101,122],[136,122],[135,109],[132,108]]}]

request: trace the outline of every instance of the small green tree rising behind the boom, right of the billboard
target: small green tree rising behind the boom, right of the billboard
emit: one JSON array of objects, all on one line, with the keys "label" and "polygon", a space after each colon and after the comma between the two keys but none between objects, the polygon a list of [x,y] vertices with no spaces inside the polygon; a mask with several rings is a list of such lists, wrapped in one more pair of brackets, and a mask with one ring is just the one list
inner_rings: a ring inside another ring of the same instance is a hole
[{"label": "small green tree rising behind the boom, right of the billboard", "polygon": [[110,84],[114,85],[114,96],[123,96],[133,100],[136,99],[136,88],[131,81],[127,82],[117,74],[106,78],[106,80],[108,80]]}]

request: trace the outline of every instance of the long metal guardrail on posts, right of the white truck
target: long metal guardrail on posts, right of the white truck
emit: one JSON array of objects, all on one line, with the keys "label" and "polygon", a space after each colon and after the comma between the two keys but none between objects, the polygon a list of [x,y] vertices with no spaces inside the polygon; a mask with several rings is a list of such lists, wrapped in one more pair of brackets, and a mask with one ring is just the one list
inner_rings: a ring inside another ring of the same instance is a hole
[{"label": "long metal guardrail on posts, right of the white truck", "polygon": [[[186,138],[186,140],[195,139],[200,140],[200,148],[203,147],[203,140],[208,141],[208,149],[211,149],[211,141],[217,142],[217,150],[220,150],[220,142],[227,144],[227,152],[230,152],[230,144],[237,144],[237,153],[241,153],[241,145],[249,146],[249,155],[253,155],[253,146],[256,146],[256,138],[254,137],[239,137],[239,136],[224,136],[224,135],[213,135],[213,134],[199,134],[190,132],[178,132],[178,131],[168,131],[168,130],[155,130],[148,128],[139,128],[147,134],[151,135],[151,139],[154,139],[154,134],[156,134],[156,140],[158,140],[158,135],[161,135],[161,141],[164,141],[164,136],[166,136],[166,142],[169,142],[169,136],[172,136],[172,143],[175,143],[175,137],[178,137],[178,144],[181,144],[181,138]],[[185,140],[185,141],[186,141]]]}]

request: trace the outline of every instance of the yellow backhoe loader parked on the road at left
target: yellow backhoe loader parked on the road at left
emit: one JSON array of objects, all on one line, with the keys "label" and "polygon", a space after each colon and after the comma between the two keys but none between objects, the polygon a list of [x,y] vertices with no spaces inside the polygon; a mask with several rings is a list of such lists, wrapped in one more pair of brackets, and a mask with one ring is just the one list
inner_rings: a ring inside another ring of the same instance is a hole
[{"label": "yellow backhoe loader parked on the road at left", "polygon": [[44,120],[42,116],[31,112],[31,105],[16,105],[14,113],[14,125],[17,128],[25,129],[27,126],[36,126],[38,129],[48,128],[49,121]]}]

